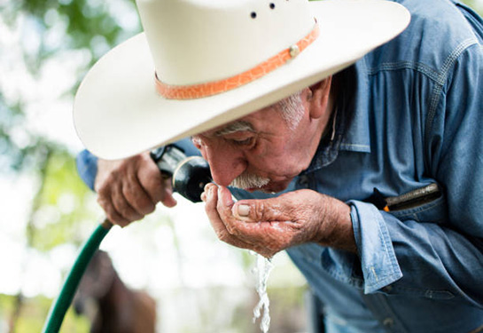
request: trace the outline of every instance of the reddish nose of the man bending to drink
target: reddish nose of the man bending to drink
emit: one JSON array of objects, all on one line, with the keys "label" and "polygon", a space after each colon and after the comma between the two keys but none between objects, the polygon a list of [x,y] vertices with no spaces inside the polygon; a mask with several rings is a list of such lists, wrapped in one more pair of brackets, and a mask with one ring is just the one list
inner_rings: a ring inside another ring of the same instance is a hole
[{"label": "reddish nose of the man bending to drink", "polygon": [[246,170],[245,157],[235,147],[209,142],[198,142],[196,146],[210,165],[212,178],[218,185],[229,186],[233,179]]}]

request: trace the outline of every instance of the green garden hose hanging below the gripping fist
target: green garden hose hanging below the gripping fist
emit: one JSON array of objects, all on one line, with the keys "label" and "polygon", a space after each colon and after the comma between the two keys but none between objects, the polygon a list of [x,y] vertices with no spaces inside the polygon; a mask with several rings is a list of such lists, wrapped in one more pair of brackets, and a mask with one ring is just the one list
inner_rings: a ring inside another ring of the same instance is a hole
[{"label": "green garden hose hanging below the gripping fist", "polygon": [[67,309],[72,303],[74,298],[75,290],[82,279],[87,266],[90,263],[90,259],[96,253],[99,248],[99,244],[104,239],[105,235],[109,232],[113,225],[107,219],[97,226],[96,230],[90,235],[90,238],[85,242],[82,247],[79,256],[74,262],[69,274],[67,275],[64,286],[60,290],[60,294],[56,299],[55,303],[51,306],[49,311],[49,316],[45,325],[43,326],[43,333],[57,333],[64,321],[64,316],[66,315]]}]

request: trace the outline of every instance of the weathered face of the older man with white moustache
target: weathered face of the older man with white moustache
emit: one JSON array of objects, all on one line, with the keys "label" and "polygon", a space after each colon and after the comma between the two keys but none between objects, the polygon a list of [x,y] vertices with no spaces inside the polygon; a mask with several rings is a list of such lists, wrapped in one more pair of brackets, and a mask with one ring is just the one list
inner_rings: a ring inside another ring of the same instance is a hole
[{"label": "weathered face of the older man with white moustache", "polygon": [[284,190],[308,167],[323,131],[310,117],[307,94],[308,89],[291,103],[297,108],[295,121],[285,119],[283,104],[276,103],[193,136],[193,143],[210,165],[214,182],[248,191]]}]

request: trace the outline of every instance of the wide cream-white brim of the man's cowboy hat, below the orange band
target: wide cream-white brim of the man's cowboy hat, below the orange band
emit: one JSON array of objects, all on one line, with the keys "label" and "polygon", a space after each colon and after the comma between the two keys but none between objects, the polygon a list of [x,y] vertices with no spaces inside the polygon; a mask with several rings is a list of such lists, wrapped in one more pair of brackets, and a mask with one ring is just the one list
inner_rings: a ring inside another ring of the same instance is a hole
[{"label": "wide cream-white brim of the man's cowboy hat, below the orange band", "polygon": [[144,34],[115,47],[90,69],[74,99],[74,125],[91,153],[121,159],[229,123],[339,72],[409,24],[384,0],[309,4],[320,36],[284,66],[252,83],[202,99],[164,99]]}]

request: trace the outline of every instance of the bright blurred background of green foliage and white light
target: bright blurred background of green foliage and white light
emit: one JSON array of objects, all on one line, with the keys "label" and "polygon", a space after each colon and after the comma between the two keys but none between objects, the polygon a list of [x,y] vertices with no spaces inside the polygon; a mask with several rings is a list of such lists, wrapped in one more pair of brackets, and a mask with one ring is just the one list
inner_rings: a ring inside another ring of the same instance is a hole
[{"label": "bright blurred background of green foliage and white light", "polygon": [[[483,0],[464,2],[483,12]],[[102,217],[75,170],[74,91],[140,31],[131,0],[0,0],[0,332],[42,329]],[[177,199],[107,235],[101,249],[120,280],[155,300],[157,332],[259,332],[255,256],[217,241],[203,204]],[[273,263],[270,331],[305,332],[306,283],[284,253]],[[70,310],[62,331],[87,332],[91,317]]]}]

